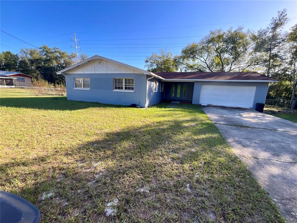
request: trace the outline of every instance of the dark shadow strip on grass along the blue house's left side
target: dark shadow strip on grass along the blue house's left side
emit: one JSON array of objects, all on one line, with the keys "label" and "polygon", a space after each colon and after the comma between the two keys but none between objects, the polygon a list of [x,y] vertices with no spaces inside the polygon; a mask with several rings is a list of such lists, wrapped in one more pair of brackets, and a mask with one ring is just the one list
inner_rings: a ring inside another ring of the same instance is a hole
[{"label": "dark shadow strip on grass along the blue house's left side", "polygon": [[101,104],[96,102],[72,101],[66,97],[17,97],[17,98],[0,98],[1,106],[32,108],[44,110],[79,110],[94,107],[114,107],[121,108],[124,106]]}]

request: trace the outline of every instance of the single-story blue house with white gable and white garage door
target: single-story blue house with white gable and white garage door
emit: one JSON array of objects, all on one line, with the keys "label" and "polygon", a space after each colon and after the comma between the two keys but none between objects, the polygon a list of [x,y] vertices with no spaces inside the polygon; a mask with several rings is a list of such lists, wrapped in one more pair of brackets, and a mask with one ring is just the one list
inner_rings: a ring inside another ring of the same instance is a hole
[{"label": "single-story blue house with white gable and white garage door", "polygon": [[148,107],[162,100],[255,109],[265,103],[268,83],[257,72],[151,73],[102,56],[92,56],[64,74],[68,100]]}]

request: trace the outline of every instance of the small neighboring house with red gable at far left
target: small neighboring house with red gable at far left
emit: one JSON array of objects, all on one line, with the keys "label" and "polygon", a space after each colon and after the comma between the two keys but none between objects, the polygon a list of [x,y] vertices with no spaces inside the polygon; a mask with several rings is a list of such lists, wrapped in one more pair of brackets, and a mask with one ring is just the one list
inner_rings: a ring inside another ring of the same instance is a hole
[{"label": "small neighboring house with red gable at far left", "polygon": [[0,70],[1,86],[32,86],[32,77],[20,72]]}]

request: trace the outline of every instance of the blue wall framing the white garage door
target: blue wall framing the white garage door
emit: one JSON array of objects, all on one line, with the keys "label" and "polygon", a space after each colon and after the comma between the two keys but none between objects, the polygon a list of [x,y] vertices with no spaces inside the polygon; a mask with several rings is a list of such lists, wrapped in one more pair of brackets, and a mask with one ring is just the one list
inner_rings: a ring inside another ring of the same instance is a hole
[{"label": "blue wall framing the white garage door", "polygon": [[195,81],[193,92],[193,104],[199,104],[202,84],[211,85],[232,85],[232,86],[256,86],[255,97],[252,109],[256,108],[256,103],[265,103],[268,83],[266,82],[217,82],[217,81]]}]

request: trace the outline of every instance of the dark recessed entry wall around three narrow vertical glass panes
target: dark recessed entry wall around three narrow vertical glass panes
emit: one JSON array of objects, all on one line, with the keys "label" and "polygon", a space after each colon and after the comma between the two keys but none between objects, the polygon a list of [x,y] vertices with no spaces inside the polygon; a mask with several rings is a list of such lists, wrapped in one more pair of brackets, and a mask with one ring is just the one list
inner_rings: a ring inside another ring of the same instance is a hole
[{"label": "dark recessed entry wall around three narrow vertical glass panes", "polygon": [[[193,99],[193,90],[194,90],[194,82],[167,82],[164,81],[163,82],[164,88],[165,88],[165,92],[164,92],[164,98],[166,100],[181,100],[181,101],[192,101]],[[172,84],[175,84],[174,87],[174,97],[171,97],[171,87]],[[181,93],[180,93],[180,97],[176,97],[176,92],[177,92],[177,85],[180,84],[181,85]],[[187,91],[186,91],[186,97],[183,98],[183,88],[184,88],[184,84],[187,84]]]}]

